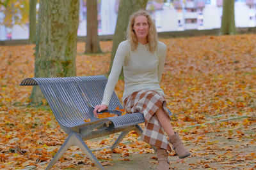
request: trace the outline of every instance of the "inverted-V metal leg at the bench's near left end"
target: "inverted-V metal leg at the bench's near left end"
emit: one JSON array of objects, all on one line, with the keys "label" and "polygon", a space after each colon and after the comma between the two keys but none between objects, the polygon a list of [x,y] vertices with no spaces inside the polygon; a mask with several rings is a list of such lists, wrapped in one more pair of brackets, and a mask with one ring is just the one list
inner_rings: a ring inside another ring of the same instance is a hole
[{"label": "inverted-V metal leg at the bench's near left end", "polygon": [[51,162],[49,163],[49,165],[46,167],[45,170],[51,169],[51,167],[60,159],[60,157],[63,155],[63,153],[65,153],[70,146],[74,146],[74,145],[79,146],[79,148],[81,148],[81,150],[83,150],[83,152],[86,154],[86,156],[92,160],[92,162],[95,164],[95,166],[99,167],[99,169],[104,170],[104,168],[102,167],[100,162],[93,155],[90,148],[88,148],[88,146],[84,143],[81,136],[77,133],[72,133],[68,136],[68,138],[65,140],[65,142],[61,146],[58,153],[56,153],[56,155],[53,157],[53,159],[51,160]]}]

